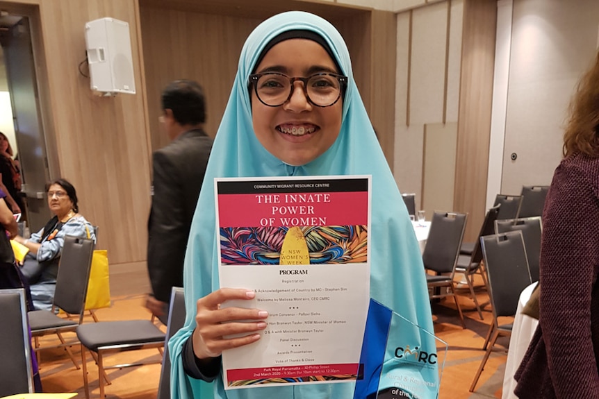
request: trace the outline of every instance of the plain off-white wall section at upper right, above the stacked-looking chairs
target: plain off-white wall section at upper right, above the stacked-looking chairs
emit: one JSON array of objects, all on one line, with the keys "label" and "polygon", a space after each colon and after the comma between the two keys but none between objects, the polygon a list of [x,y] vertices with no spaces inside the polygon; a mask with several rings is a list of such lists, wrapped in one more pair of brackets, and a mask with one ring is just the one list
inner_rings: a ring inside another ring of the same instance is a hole
[{"label": "plain off-white wall section at upper right, above the stacked-looking chairs", "polygon": [[[598,49],[596,0],[514,0],[501,189],[548,185],[566,108]],[[518,158],[512,161],[511,153]]]}]

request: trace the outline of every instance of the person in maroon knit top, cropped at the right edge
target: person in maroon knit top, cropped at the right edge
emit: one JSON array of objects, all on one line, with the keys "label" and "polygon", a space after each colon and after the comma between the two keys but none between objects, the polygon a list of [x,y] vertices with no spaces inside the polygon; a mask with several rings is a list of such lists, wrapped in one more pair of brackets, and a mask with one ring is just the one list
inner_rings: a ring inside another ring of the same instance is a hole
[{"label": "person in maroon knit top, cropped at the right edge", "polygon": [[599,53],[573,97],[543,210],[539,327],[518,398],[599,398]]}]

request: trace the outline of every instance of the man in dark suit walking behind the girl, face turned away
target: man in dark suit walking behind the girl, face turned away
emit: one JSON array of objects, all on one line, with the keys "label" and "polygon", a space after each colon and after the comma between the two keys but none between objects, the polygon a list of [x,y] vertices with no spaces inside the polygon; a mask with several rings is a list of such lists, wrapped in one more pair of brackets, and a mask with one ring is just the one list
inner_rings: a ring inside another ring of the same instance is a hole
[{"label": "man in dark suit walking behind the girl, face turned away", "polygon": [[162,93],[161,124],[172,142],[154,152],[147,267],[152,294],[146,307],[166,324],[172,287],[183,287],[183,259],[212,139],[204,133],[204,90],[175,80]]}]

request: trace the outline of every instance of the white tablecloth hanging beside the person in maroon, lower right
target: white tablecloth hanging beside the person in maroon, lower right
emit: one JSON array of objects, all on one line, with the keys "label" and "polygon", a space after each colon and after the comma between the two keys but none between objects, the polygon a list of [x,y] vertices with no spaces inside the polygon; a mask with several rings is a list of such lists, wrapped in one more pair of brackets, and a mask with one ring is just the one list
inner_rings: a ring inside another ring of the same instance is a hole
[{"label": "white tablecloth hanging beside the person in maroon, lower right", "polygon": [[505,364],[505,374],[503,376],[502,399],[517,399],[514,395],[516,389],[516,380],[514,374],[522,362],[522,358],[528,349],[530,339],[536,330],[536,325],[539,321],[522,313],[522,308],[528,302],[532,290],[536,287],[536,282],[526,287],[520,300],[518,300],[518,309],[514,318],[514,326],[511,329],[511,337],[509,338],[509,349],[507,351],[507,362]]}]

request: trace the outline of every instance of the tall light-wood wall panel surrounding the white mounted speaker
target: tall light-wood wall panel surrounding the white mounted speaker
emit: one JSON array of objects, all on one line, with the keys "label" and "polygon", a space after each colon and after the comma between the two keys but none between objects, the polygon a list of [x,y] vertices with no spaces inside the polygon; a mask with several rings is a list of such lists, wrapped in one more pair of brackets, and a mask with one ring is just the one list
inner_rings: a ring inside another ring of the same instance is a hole
[{"label": "tall light-wood wall panel surrounding the white mounted speaker", "polygon": [[[149,210],[144,85],[140,78],[135,0],[20,0],[33,6],[32,28],[40,105],[53,178],[71,180],[81,212],[99,226],[99,248],[111,268],[145,260]],[[129,23],[137,94],[99,97],[79,74],[85,22],[113,17]]]}]

